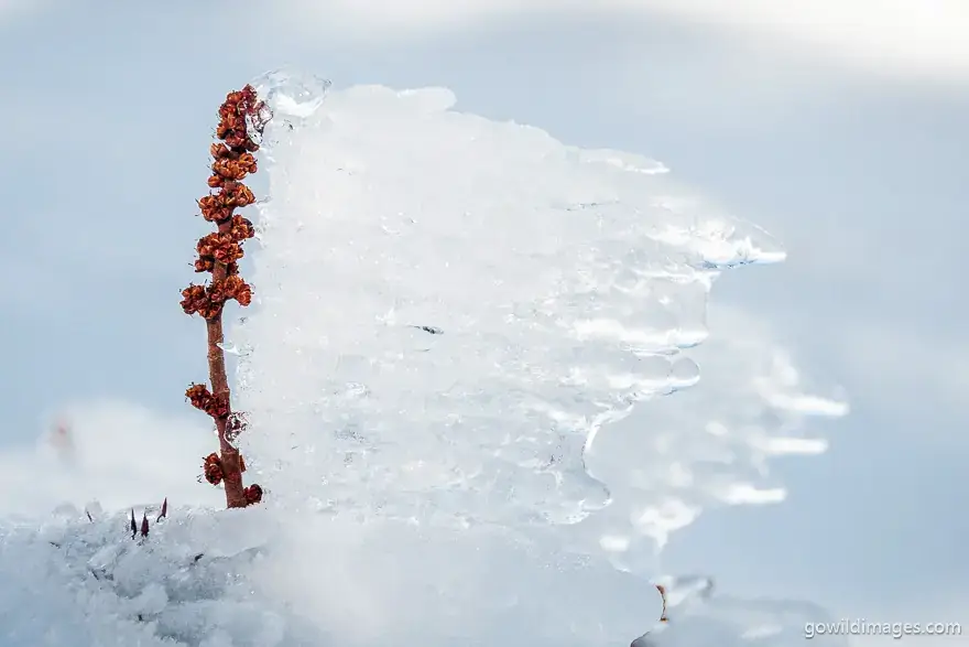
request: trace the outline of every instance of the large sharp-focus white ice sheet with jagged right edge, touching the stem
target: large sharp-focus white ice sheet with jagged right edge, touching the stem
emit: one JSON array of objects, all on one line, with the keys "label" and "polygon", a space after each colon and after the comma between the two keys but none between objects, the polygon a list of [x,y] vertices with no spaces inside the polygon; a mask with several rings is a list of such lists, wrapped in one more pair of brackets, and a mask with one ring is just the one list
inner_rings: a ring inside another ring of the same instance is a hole
[{"label": "large sharp-focus white ice sheet with jagged right edge, touching the stem", "polygon": [[277,503],[575,524],[612,500],[590,439],[699,379],[711,278],[783,252],[656,162],[454,100],[334,93],[264,151],[242,442]]}]

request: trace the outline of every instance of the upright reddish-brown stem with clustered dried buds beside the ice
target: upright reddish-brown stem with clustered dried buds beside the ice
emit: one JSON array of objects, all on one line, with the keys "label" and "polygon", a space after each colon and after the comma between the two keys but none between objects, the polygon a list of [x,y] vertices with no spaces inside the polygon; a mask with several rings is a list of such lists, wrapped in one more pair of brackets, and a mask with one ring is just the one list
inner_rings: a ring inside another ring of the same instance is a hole
[{"label": "upright reddish-brown stem with clustered dried buds beside the ice", "polygon": [[242,242],[252,238],[252,223],[235,213],[236,208],[251,205],[255,196],[242,183],[255,173],[252,155],[259,150],[258,136],[269,120],[269,110],[255,96],[252,86],[229,93],[219,108],[219,126],[214,143],[213,174],[208,185],[215,190],[198,201],[202,217],[215,223],[218,230],[198,240],[195,260],[196,272],[210,272],[206,285],[192,284],[182,291],[182,309],[186,314],[198,314],[206,322],[208,333],[208,374],[211,390],[205,385],[193,384],[185,391],[192,405],[209,414],[215,421],[219,438],[218,453],[204,459],[206,481],[225,485],[226,504],[241,508],[262,500],[259,485],[243,487],[242,473],[246,463],[235,446],[236,438],[246,428],[246,418],[231,409],[229,380],[226,374],[226,355],[222,351],[222,310],[229,300],[246,306],[252,301],[252,289],[239,276]]}]

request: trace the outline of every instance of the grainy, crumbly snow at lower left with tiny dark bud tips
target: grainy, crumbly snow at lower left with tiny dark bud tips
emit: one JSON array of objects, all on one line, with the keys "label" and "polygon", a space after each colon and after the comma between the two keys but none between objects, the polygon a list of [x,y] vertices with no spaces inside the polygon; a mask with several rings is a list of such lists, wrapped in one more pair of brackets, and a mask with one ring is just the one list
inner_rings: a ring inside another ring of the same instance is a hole
[{"label": "grainy, crumbly snow at lower left with tiny dark bud tips", "polygon": [[132,538],[129,513],[72,507],[40,530],[0,529],[0,644],[280,645],[285,624],[240,578],[264,544],[260,510],[153,513],[148,538]]}]

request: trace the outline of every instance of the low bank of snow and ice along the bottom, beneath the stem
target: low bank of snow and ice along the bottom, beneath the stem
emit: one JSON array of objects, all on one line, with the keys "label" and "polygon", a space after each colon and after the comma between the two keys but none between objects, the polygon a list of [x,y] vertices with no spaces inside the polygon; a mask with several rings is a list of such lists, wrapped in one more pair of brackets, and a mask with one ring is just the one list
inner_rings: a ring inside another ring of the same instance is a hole
[{"label": "low bank of snow and ice along the bottom, beneath the stem", "polygon": [[0,644],[790,647],[806,623],[830,621],[814,605],[719,597],[684,578],[664,581],[669,622],[654,627],[649,582],[551,537],[265,508],[155,514],[146,538],[132,539],[128,513],[89,521],[69,508],[40,530],[3,529]]}]

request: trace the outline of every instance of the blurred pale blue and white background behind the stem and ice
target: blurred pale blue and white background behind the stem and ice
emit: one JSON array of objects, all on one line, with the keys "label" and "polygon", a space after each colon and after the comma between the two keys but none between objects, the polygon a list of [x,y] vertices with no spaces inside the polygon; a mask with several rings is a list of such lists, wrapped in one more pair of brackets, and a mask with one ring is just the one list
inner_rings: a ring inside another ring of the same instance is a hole
[{"label": "blurred pale blue and white background behind the stem and ice", "polygon": [[[0,511],[56,503],[28,484],[62,417],[100,462],[83,499],[218,500],[195,483],[210,435],[182,398],[204,368],[200,324],[176,303],[192,201],[225,91],[292,63],[338,86],[446,86],[460,110],[655,157],[780,238],[785,263],[717,283],[710,328],[786,348],[823,391],[843,387],[851,414],[821,423],[827,453],[772,463],[782,505],[706,514],[662,569],[836,617],[969,621],[969,9],[522,6],[0,3]],[[92,298],[106,290],[121,296]]]}]

